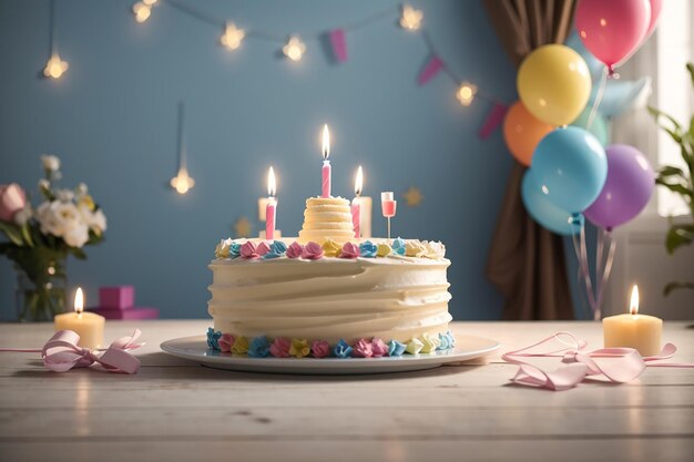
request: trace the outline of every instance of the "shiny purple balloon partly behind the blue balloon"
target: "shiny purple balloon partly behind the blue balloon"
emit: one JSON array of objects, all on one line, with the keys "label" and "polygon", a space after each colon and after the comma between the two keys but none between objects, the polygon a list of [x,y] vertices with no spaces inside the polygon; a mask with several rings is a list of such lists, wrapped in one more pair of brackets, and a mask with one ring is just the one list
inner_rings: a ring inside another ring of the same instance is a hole
[{"label": "shiny purple balloon partly behind the blue balloon", "polygon": [[605,153],[608,179],[584,214],[593,224],[612,229],[643,211],[653,195],[655,174],[646,157],[633,146],[612,144]]}]

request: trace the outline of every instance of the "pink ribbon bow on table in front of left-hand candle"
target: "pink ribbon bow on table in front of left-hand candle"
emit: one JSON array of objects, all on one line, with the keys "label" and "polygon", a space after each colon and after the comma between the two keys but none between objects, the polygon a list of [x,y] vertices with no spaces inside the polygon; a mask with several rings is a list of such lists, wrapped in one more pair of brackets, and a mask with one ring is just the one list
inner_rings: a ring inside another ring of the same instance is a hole
[{"label": "pink ribbon bow on table in front of left-hand candle", "polygon": [[142,332],[135,329],[132,336],[115,340],[105,350],[91,350],[78,346],[80,336],[72,330],[59,330],[42,349],[0,348],[0,351],[40,352],[43,365],[54,372],[65,372],[72,368],[86,368],[96,362],[104,372],[135,373],[140,360],[129,351],[142,347],[136,343]]}]

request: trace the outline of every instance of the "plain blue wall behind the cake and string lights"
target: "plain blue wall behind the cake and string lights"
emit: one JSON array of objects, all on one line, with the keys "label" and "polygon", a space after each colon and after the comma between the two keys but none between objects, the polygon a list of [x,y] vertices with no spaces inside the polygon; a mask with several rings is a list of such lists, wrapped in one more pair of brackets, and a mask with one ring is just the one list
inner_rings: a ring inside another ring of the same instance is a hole
[{"label": "plain blue wall behind the cake and string lights", "polygon": [[[421,188],[420,207],[400,203],[395,233],[447,244],[455,317],[499,317],[502,300],[483,268],[511,158],[500,132],[477,136],[489,103],[461,106],[442,74],[417,85],[427,50],[396,25],[398,2],[195,2],[212,17],[278,35],[307,35],[391,6],[391,19],[348,34],[350,58],[339,65],[317,41],[307,42],[299,63],[262,40],[228,52],[217,44],[220,30],[166,4],[137,24],[132,3],[58,1],[58,47],[70,63],[58,81],[38,76],[48,58],[49,2],[0,3],[0,183],[35,191],[39,156],[53,153],[63,161],[63,184],[88,183],[109,218],[108,240],[86,249],[88,261],[70,260],[71,285],[95,301],[101,285],[134,284],[137,301],[163,317],[206,317],[214,245],[239,216],[257,232],[256,199],[271,164],[279,227],[296,235],[304,199],[319,192],[319,132],[327,122],[334,192],[351,197],[358,164],[375,212],[380,191]],[[481,2],[412,3],[457,73],[513,101],[516,73]],[[197,182],[185,196],[165,187],[176,170],[178,101]],[[385,223],[374,218],[375,234],[384,235]],[[14,314],[13,284],[3,259],[6,319]]]}]

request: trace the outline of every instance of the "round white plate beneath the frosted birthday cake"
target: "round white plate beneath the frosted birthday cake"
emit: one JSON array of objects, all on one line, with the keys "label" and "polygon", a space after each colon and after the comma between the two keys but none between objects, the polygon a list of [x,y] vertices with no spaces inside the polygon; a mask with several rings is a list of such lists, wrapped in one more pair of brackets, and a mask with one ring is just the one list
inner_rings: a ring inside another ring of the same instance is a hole
[{"label": "round white plate beneath the frosted birthday cake", "polygon": [[499,348],[499,342],[474,336],[456,336],[456,348],[431,355],[404,355],[396,358],[248,358],[207,348],[206,336],[166,340],[162,350],[215,369],[247,372],[353,374],[406,372],[438,368],[448,362],[480,358]]}]

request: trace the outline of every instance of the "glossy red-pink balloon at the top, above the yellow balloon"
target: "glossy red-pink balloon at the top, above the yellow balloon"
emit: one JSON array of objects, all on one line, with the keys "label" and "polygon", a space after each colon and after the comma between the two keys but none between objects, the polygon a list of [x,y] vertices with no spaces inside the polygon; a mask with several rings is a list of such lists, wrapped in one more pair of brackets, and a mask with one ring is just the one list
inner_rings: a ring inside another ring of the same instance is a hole
[{"label": "glossy red-pink balloon at the top, above the yellow balloon", "polygon": [[611,73],[639,48],[650,22],[649,0],[580,0],[575,10],[581,41]]}]

